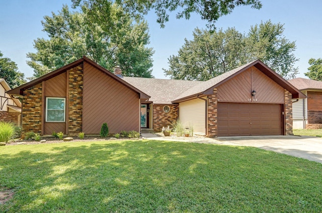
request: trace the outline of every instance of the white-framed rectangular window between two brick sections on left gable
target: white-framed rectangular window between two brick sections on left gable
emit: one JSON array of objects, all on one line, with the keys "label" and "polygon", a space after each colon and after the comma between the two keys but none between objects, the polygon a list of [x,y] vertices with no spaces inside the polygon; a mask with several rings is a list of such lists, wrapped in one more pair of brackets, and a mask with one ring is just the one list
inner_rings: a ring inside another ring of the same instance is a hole
[{"label": "white-framed rectangular window between two brick sections on left gable", "polygon": [[65,98],[46,98],[46,122],[65,121]]}]

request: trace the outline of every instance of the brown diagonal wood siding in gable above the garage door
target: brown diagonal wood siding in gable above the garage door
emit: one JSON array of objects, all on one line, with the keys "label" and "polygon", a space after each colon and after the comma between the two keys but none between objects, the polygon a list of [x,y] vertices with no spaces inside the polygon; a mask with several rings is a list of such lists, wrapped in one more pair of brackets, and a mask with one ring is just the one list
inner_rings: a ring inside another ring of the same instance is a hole
[{"label": "brown diagonal wood siding in gable above the garage door", "polygon": [[[256,91],[256,101],[251,92]],[[217,87],[219,102],[284,103],[284,89],[256,67],[238,74]]]}]

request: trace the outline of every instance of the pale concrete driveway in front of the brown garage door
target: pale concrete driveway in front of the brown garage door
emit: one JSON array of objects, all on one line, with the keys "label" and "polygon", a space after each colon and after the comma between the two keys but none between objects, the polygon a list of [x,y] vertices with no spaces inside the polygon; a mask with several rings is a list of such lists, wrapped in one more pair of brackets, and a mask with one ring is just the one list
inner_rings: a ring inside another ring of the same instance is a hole
[{"label": "pale concrete driveway in front of the brown garage door", "polygon": [[310,136],[218,137],[227,145],[253,146],[322,163],[322,139]]}]

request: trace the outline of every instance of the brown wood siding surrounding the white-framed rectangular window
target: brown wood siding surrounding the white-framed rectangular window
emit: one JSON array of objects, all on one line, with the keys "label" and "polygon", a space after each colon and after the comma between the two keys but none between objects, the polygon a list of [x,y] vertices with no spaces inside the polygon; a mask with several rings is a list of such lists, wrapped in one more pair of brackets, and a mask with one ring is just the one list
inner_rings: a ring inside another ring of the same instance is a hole
[{"label": "brown wood siding surrounding the white-framed rectangular window", "polygon": [[[62,73],[44,82],[44,112],[43,112],[43,134],[51,135],[55,132],[64,132],[66,130],[66,123],[64,122],[45,122],[46,120],[46,97],[66,97],[66,73]],[[67,107],[66,107],[67,108]]]}]

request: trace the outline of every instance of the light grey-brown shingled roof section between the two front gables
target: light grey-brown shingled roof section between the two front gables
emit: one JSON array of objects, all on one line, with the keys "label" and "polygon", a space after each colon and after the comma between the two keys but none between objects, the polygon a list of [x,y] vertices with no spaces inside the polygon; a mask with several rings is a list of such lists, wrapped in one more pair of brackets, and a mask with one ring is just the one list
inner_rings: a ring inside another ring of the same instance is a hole
[{"label": "light grey-brown shingled roof section between the two front gables", "polygon": [[202,81],[122,77],[124,81],[151,96],[154,104],[171,104],[177,96]]}]

